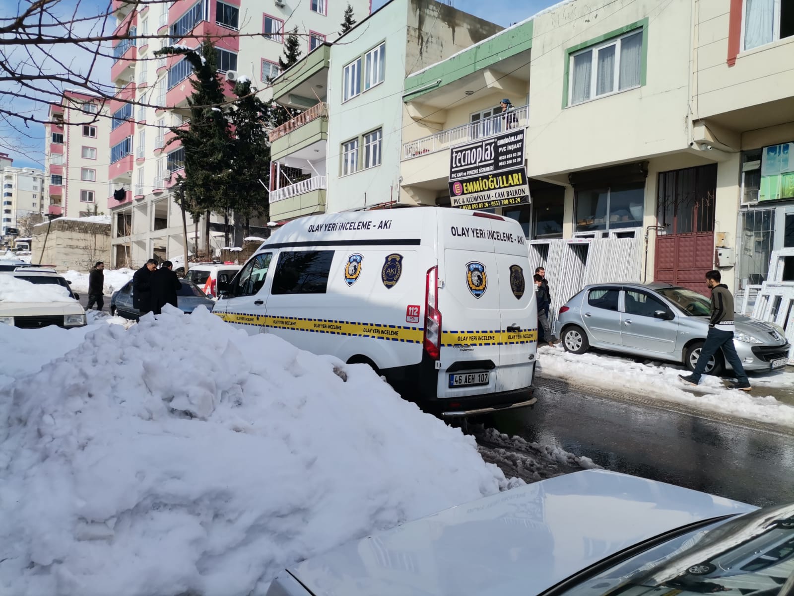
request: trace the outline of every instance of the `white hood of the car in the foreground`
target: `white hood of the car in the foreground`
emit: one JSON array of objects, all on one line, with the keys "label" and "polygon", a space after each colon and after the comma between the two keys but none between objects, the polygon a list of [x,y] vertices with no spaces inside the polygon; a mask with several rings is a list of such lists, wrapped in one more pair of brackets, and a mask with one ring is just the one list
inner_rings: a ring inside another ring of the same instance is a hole
[{"label": "white hood of the car in the foreground", "polygon": [[291,567],[314,596],[539,594],[675,528],[752,505],[604,470],[458,505]]}]

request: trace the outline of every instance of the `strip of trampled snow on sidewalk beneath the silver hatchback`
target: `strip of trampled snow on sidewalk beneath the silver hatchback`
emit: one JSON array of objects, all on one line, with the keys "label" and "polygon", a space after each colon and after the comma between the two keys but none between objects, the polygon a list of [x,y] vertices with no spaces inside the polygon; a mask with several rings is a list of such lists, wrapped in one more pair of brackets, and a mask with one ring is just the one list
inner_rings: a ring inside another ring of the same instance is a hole
[{"label": "strip of trampled snow on sidewalk beneath the silver hatchback", "polygon": [[[784,370],[754,374],[750,382],[753,394],[727,389],[717,377],[703,376],[695,388],[684,384],[678,375],[683,366],[662,362],[634,362],[625,356],[587,352],[570,354],[562,346],[542,347],[538,350],[539,377],[562,379],[580,387],[596,387],[611,391],[634,393],[660,401],[675,401],[719,412],[794,428],[794,407],[781,403],[765,389],[779,388],[794,391],[794,373]],[[693,393],[694,392],[694,393]]]}]

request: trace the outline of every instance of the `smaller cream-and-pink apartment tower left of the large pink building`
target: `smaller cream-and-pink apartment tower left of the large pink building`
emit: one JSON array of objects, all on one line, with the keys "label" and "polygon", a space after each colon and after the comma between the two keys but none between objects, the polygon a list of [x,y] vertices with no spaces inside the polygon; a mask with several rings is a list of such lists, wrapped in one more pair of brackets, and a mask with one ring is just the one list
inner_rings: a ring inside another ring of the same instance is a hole
[{"label": "smaller cream-and-pink apartment tower left of the large pink building", "polygon": [[44,135],[45,213],[70,218],[107,214],[110,121],[102,99],[67,90],[49,108]]}]

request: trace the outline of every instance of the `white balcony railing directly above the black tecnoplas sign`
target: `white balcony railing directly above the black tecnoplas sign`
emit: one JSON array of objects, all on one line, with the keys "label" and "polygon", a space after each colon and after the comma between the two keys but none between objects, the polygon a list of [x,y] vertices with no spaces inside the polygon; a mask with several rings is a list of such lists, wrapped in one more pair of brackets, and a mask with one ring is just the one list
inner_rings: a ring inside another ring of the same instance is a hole
[{"label": "white balcony railing directly above the black tecnoplas sign", "polygon": [[507,112],[507,117],[505,114],[497,114],[477,122],[442,130],[440,133],[431,134],[430,137],[403,143],[403,160],[426,155],[426,153],[436,153],[455,145],[463,145],[479,138],[492,137],[508,130],[523,128],[529,124],[529,120],[530,106],[522,106]]}]

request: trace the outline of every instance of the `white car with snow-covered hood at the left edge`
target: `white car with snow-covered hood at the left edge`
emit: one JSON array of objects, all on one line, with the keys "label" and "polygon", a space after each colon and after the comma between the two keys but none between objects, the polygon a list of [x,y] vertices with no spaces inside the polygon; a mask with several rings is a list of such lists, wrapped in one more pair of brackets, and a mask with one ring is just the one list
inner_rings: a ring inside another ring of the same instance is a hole
[{"label": "white car with snow-covered hood at the left edge", "polygon": [[[83,327],[86,312],[78,300],[80,296],[71,291],[69,281],[54,272],[41,272],[33,269],[18,269],[0,273],[0,284],[4,277],[14,277],[31,284],[52,284],[66,288],[65,300],[0,300],[0,324],[22,329],[57,327]],[[61,296],[58,296],[59,298]]]}]

